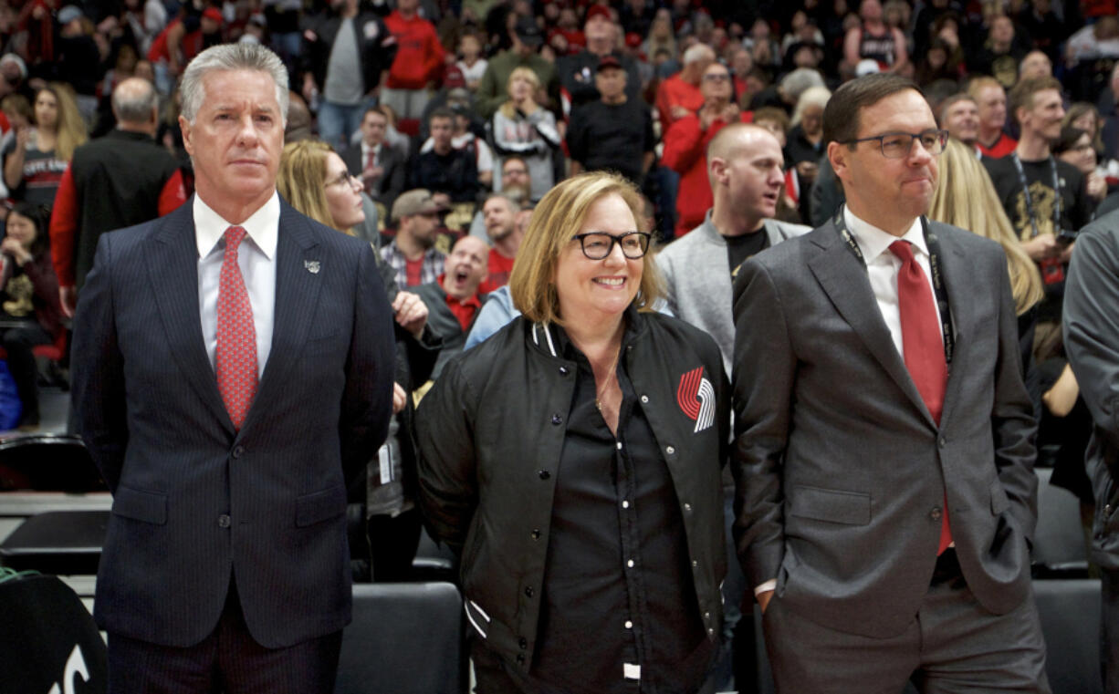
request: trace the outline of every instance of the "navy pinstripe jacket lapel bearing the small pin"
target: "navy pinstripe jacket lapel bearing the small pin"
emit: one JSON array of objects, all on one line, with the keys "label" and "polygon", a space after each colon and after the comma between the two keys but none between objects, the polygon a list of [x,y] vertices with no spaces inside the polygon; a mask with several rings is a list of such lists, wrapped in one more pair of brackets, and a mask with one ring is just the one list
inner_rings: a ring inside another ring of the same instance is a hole
[{"label": "navy pinstripe jacket lapel bearing the small pin", "polygon": [[276,389],[283,388],[285,374],[302,352],[319,301],[322,277],[332,269],[337,268],[323,262],[308,220],[281,200],[272,348],[243,429],[262,417],[261,410],[269,402],[280,400]]}]

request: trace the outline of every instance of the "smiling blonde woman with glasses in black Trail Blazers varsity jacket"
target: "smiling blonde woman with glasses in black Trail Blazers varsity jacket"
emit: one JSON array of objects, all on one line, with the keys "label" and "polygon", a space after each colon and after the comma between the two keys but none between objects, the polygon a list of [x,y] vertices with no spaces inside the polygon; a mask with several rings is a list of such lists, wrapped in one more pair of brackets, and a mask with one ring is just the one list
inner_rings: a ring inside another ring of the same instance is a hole
[{"label": "smiling blonde woman with glasses in black Trail Blazers varsity jacket", "polygon": [[552,189],[509,282],[520,317],[416,416],[482,694],[695,692],[716,653],[730,388],[709,335],[650,312],[641,210],[615,174]]}]

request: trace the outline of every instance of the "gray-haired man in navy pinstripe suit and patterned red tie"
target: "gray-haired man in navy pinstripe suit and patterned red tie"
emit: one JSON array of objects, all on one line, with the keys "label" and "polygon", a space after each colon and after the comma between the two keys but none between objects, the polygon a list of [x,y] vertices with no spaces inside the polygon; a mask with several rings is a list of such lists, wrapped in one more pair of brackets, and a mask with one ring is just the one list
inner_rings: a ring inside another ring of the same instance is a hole
[{"label": "gray-haired man in navy pinstripe suit and patterned red tie", "polygon": [[368,244],[275,190],[288,75],[261,46],[182,77],[197,193],[97,244],[74,405],[113,492],[94,617],[109,690],[333,690],[346,487],[385,439],[392,311]]}]

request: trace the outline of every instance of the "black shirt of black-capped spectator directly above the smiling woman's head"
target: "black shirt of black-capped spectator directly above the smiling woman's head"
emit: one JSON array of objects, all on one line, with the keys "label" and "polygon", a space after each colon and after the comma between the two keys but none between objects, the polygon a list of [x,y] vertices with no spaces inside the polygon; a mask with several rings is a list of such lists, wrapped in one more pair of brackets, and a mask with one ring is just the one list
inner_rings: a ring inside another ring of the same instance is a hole
[{"label": "black shirt of black-capped spectator directly above the smiling woman's head", "polygon": [[575,108],[567,126],[573,160],[587,171],[617,171],[637,184],[645,178],[642,159],[656,144],[649,106],[640,99],[589,102]]}]

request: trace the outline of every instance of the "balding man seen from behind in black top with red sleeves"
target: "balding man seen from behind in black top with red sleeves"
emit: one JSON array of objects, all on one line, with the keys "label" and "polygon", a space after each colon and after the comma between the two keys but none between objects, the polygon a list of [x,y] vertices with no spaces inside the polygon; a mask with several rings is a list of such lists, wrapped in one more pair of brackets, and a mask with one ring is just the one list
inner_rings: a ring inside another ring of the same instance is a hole
[{"label": "balding man seen from behind in black top with red sleeves", "polygon": [[113,89],[112,105],[116,129],[74,151],[50,216],[50,253],[70,316],[97,238],[162,217],[187,199],[179,163],[156,144],[154,85],[130,77]]}]

